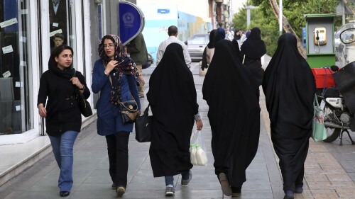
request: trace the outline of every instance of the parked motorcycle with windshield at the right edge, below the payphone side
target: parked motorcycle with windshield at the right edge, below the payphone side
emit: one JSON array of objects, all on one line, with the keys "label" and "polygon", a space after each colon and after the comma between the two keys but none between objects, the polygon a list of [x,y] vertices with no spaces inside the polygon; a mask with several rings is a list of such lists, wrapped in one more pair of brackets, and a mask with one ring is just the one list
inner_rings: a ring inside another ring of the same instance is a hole
[{"label": "parked motorcycle with windshield at the right edge, below the payphone side", "polygon": [[[320,106],[324,111],[324,126],[327,130],[327,139],[324,142],[333,142],[340,137],[343,144],[343,133],[349,135],[349,130],[355,131],[355,24],[343,25],[335,33],[334,45],[339,67],[324,67],[332,74],[335,87],[324,88],[322,96],[318,96]],[[327,77],[326,77],[327,78]],[[325,85],[325,84],[324,84]]]}]

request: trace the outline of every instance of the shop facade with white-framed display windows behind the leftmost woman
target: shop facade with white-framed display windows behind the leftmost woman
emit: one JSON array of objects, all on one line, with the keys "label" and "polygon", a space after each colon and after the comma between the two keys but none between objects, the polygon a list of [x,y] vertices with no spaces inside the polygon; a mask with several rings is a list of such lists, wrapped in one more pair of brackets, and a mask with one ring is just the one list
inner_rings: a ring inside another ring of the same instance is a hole
[{"label": "shop facade with white-framed display windows behind the leftmost woman", "polygon": [[[26,143],[44,135],[37,95],[55,34],[63,35],[63,44],[73,48],[72,66],[91,85],[99,39],[107,33],[118,33],[117,3],[0,0],[0,145]],[[88,99],[93,108],[95,98],[92,93]]]}]

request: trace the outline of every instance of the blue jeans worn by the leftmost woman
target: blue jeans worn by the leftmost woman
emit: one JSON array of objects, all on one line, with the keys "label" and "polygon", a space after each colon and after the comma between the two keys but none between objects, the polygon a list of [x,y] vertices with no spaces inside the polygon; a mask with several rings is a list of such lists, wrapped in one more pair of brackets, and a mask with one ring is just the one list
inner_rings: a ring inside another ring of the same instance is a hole
[{"label": "blue jeans worn by the leftmost woman", "polygon": [[67,131],[59,137],[48,136],[52,144],[53,154],[60,169],[58,186],[60,191],[70,191],[72,189],[72,164],[74,142],[79,132]]}]

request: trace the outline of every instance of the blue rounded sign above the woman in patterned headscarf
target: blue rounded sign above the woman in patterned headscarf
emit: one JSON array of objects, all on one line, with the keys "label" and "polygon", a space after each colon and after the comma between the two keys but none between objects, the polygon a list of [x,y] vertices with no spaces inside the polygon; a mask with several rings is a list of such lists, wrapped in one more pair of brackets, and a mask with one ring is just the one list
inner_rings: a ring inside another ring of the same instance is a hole
[{"label": "blue rounded sign above the woman in patterned headscarf", "polygon": [[119,1],[119,35],[122,44],[136,38],[144,28],[144,15],[140,8],[129,1]]}]

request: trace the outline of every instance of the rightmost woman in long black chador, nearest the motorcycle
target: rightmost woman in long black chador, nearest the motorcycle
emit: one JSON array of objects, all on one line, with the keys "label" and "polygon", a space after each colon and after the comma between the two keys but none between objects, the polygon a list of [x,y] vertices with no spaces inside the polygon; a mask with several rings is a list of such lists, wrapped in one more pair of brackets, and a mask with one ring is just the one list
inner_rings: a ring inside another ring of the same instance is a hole
[{"label": "rightmost woman in long black chador, nearest the motorcycle", "polygon": [[303,191],[315,98],[315,77],[298,52],[294,35],[285,33],[278,39],[278,49],[264,73],[263,91],[285,198],[293,198],[294,192]]}]

